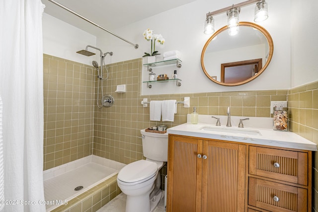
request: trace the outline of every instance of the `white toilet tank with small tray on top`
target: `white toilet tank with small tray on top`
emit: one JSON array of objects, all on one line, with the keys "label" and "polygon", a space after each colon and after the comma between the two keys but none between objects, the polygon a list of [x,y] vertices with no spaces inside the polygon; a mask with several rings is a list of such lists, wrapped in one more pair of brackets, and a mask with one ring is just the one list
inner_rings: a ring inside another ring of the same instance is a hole
[{"label": "white toilet tank with small tray on top", "polygon": [[149,133],[141,130],[143,153],[148,159],[168,161],[168,134]]}]

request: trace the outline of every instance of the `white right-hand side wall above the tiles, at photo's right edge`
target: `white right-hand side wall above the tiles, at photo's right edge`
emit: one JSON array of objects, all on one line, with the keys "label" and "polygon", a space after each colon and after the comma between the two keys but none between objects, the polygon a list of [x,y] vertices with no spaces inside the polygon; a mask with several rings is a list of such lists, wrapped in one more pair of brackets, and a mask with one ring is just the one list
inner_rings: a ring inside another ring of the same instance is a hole
[{"label": "white right-hand side wall above the tiles, at photo's right edge", "polygon": [[318,80],[318,1],[292,0],[291,87]]}]

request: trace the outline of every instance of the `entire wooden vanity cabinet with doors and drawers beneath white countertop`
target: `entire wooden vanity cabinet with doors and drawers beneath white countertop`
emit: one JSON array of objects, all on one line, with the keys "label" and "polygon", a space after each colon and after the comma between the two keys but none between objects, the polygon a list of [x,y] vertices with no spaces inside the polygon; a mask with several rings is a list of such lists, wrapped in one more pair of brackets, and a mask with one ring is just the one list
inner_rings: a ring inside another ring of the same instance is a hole
[{"label": "entire wooden vanity cabinet with doors and drawers beneath white countertop", "polygon": [[169,134],[167,212],[311,212],[312,151]]}]

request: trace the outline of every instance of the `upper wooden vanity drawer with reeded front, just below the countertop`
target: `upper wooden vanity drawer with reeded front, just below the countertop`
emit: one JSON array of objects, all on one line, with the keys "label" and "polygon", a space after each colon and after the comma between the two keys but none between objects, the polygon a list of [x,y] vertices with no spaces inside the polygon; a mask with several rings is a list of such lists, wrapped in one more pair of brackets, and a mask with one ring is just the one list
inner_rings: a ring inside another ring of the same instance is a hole
[{"label": "upper wooden vanity drawer with reeded front, just below the countertop", "polygon": [[308,153],[249,147],[249,174],[308,185]]}]

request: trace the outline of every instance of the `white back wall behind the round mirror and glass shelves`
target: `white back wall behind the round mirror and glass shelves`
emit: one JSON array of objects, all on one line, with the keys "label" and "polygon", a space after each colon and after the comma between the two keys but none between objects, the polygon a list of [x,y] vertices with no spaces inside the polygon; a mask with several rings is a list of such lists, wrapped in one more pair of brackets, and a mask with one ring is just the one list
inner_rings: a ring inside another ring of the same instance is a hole
[{"label": "white back wall behind the round mirror and glass shelves", "polygon": [[[162,34],[166,41],[158,48],[159,53],[169,50],[181,52],[182,68],[177,70],[178,77],[182,79],[182,86],[176,87],[164,83],[164,85],[156,84],[152,89],[148,89],[146,83],[143,83],[142,94],[289,89],[291,87],[290,0],[267,0],[269,18],[259,25],[271,34],[274,42],[274,54],[266,71],[260,76],[247,84],[230,87],[210,81],[202,71],[201,51],[210,37],[203,33],[206,13],[239,2],[241,0],[223,0],[222,2],[196,0],[114,31],[125,39],[138,43],[140,47],[137,50],[107,33],[102,33],[102,37],[97,36],[97,46],[114,52],[112,62],[141,58],[144,52],[150,52],[150,42],[144,40],[142,33],[145,29],[151,28],[155,33]],[[241,8],[239,16],[241,21],[253,22],[254,6],[251,4]],[[282,10],[282,8],[284,9]],[[216,29],[226,25],[226,21],[226,13],[215,16]],[[175,67],[166,67],[165,73],[171,75],[175,69]]]}]

